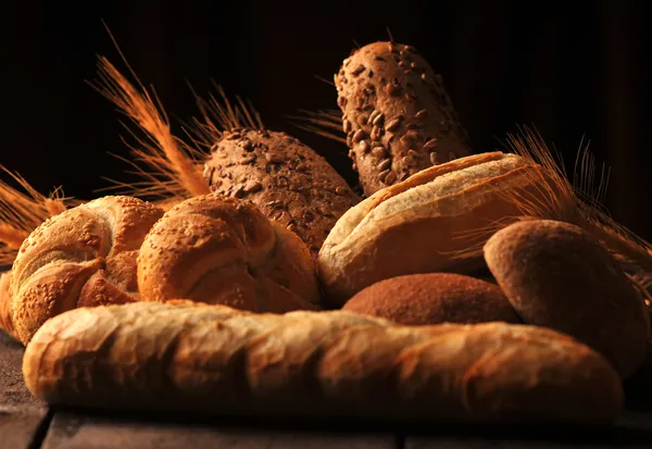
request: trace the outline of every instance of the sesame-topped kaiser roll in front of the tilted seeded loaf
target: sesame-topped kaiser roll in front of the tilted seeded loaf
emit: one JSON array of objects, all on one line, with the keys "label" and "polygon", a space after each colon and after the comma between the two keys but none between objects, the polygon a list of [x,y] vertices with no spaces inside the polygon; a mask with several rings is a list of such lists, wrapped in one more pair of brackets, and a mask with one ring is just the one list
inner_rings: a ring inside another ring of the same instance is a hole
[{"label": "sesame-topped kaiser roll in front of the tilted seeded loaf", "polygon": [[140,249],[138,286],[143,301],[184,298],[254,312],[319,303],[305,244],[253,202],[217,194],[165,212]]}]

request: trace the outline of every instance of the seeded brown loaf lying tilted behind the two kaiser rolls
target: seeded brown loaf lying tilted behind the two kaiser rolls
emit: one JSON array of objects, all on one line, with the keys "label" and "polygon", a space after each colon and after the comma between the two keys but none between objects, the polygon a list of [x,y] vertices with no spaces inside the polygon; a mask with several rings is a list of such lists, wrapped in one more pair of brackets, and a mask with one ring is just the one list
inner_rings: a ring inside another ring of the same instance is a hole
[{"label": "seeded brown loaf lying tilted behind the two kaiser rolls", "polygon": [[337,220],[360,201],[324,158],[285,133],[265,129],[225,133],[204,176],[213,192],[249,199],[297,233],[315,257]]}]

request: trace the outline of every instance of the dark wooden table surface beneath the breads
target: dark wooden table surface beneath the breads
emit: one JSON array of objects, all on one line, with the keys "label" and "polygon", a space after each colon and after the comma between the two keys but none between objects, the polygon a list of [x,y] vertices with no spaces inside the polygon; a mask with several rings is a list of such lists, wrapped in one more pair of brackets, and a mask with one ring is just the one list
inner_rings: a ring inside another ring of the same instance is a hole
[{"label": "dark wooden table surface beneath the breads", "polygon": [[0,332],[0,449],[479,449],[652,448],[652,412],[627,411],[609,428],[352,428],[209,423],[199,417],[57,410],[23,383],[23,347]]}]

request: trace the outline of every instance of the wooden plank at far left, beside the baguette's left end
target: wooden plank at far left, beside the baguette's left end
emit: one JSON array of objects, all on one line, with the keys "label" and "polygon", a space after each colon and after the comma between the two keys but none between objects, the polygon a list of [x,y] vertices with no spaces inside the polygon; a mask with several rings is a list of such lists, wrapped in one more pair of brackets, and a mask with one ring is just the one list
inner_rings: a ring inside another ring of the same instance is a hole
[{"label": "wooden plank at far left, beside the baguette's left end", "polygon": [[24,348],[0,332],[0,447],[24,449],[38,442],[47,408],[23,382]]}]

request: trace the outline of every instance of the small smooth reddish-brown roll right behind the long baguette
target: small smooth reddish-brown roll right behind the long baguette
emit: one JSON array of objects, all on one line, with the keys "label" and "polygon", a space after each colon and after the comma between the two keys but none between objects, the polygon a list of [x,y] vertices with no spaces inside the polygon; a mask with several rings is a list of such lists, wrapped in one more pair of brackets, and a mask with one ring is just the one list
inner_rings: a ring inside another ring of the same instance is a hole
[{"label": "small smooth reddish-brown roll right behind the long baguette", "polygon": [[398,324],[521,323],[500,287],[452,273],[427,273],[380,280],[351,298],[349,312]]}]

